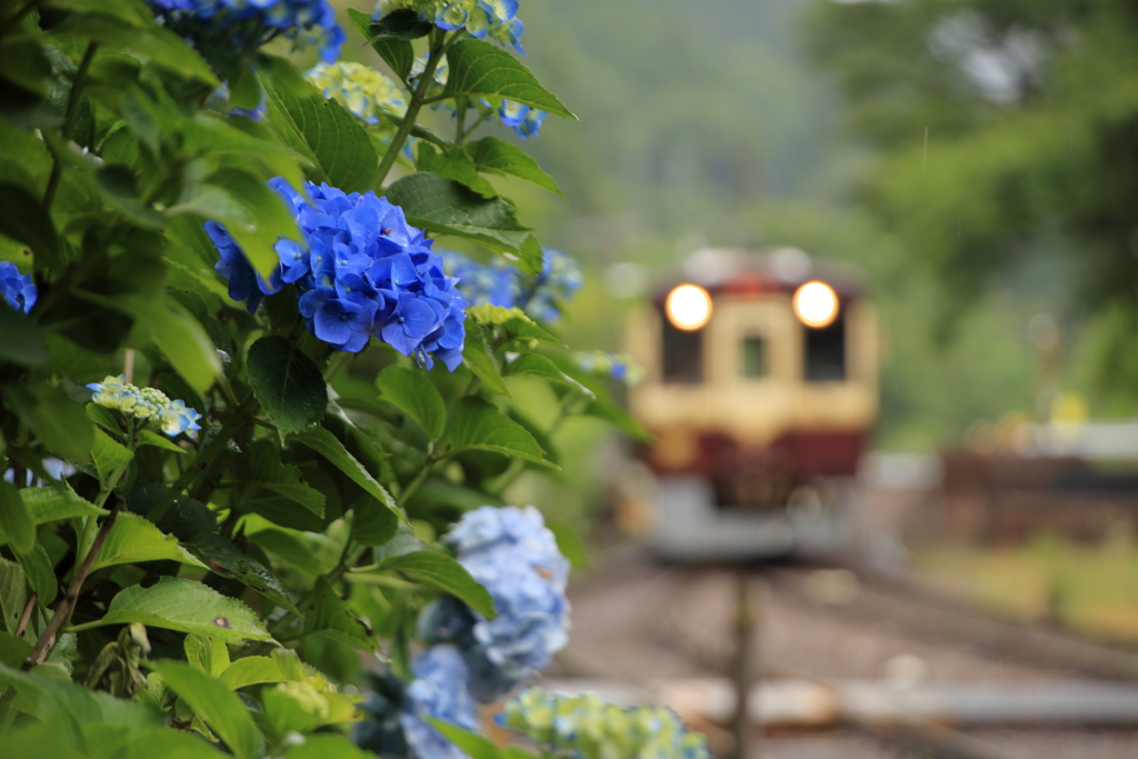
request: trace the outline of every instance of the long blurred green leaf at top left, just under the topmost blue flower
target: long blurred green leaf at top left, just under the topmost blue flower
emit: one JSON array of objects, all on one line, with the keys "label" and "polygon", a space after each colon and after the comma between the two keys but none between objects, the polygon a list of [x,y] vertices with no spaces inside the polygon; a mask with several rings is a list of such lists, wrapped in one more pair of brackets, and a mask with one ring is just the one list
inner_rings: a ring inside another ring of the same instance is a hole
[{"label": "long blurred green leaf at top left, just under the topmost blue flower", "polygon": [[209,64],[174,32],[150,24],[139,28],[102,14],[75,14],[51,28],[60,39],[99,42],[108,48],[134,52],[164,68],[195,76],[211,86],[221,86]]}]

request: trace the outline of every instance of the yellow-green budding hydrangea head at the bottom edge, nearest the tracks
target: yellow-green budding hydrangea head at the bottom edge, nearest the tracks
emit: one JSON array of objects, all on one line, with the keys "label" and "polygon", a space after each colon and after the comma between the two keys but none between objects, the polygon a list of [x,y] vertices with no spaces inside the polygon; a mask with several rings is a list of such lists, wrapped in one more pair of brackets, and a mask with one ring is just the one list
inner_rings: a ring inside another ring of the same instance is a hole
[{"label": "yellow-green budding hydrangea head at the bottom edge, nearest the tracks", "polygon": [[687,731],[670,709],[621,709],[595,693],[568,696],[530,688],[510,700],[497,719],[560,757],[709,759],[703,736]]}]

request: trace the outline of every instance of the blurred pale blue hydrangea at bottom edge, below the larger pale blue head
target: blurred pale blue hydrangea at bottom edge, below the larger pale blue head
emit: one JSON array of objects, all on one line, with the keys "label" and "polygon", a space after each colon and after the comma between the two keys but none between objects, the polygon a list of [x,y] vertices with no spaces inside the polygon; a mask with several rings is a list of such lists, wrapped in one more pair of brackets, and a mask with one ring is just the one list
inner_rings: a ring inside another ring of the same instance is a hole
[{"label": "blurred pale blue hydrangea at bottom edge, below the larger pale blue head", "polygon": [[478,731],[478,715],[468,690],[469,673],[453,645],[435,645],[411,662],[415,679],[404,692],[406,709],[399,718],[407,745],[418,759],[469,759],[459,746],[423,717]]}]

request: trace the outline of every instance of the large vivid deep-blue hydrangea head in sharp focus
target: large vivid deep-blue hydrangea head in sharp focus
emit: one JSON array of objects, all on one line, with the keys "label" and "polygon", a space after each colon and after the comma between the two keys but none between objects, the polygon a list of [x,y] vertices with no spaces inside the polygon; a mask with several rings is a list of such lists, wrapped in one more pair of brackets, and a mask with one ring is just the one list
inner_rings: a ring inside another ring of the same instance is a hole
[{"label": "large vivid deep-blue hydrangea head in sharp focus", "polygon": [[296,284],[308,330],[336,349],[358,353],[374,336],[428,369],[436,358],[451,371],[459,368],[467,303],[431,253],[434,241],[407,224],[402,208],[371,191],[347,195],[307,182],[306,199],[283,179],[269,184],[291,208],[305,241],[278,241],[280,266],[265,281],[225,228],[207,222],[221,256],[215,269],[229,280],[231,298],[246,300],[253,313],[264,296]]}]

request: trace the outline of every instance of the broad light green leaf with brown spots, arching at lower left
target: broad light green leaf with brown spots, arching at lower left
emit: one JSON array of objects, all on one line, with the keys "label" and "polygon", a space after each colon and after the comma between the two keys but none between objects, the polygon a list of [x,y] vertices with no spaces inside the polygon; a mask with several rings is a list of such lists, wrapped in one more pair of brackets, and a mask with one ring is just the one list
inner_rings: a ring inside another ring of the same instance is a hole
[{"label": "broad light green leaf with brown spots, arching at lower left", "polygon": [[163,577],[150,587],[132,585],[119,591],[102,619],[73,627],[72,632],[130,622],[216,637],[228,643],[273,640],[247,605],[181,577]]}]

